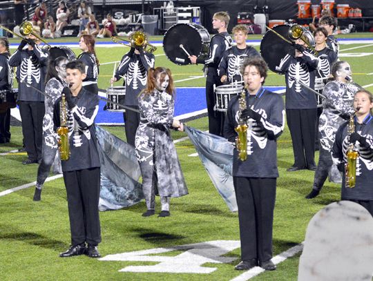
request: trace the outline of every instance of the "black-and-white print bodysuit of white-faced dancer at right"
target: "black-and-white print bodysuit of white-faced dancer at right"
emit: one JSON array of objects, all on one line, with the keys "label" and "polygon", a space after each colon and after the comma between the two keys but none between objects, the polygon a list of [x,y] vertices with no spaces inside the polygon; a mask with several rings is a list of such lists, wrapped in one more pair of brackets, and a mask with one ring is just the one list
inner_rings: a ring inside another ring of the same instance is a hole
[{"label": "black-and-white print bodysuit of white-faced dancer at right", "polygon": [[323,113],[318,125],[320,144],[325,151],[332,150],[336,131],[354,113],[352,102],[357,90],[356,86],[339,81],[330,81],[325,85]]}]

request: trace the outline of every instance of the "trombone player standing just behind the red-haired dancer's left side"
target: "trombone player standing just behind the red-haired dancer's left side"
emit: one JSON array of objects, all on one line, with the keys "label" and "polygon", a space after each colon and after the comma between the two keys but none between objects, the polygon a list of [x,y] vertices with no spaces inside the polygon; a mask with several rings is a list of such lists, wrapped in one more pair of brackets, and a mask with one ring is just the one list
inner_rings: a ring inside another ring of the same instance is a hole
[{"label": "trombone player standing just behind the red-haired dancer's left side", "polygon": [[[125,77],[123,85],[126,86],[126,97],[124,105],[138,109],[138,96],[144,90],[147,81],[147,74],[150,68],[154,67],[155,57],[144,48],[131,47],[131,50],[122,57],[120,64],[111,79],[111,84]],[[124,129],[126,130],[127,143],[135,146],[135,135],[140,124],[140,114],[132,110],[123,113]]]}]

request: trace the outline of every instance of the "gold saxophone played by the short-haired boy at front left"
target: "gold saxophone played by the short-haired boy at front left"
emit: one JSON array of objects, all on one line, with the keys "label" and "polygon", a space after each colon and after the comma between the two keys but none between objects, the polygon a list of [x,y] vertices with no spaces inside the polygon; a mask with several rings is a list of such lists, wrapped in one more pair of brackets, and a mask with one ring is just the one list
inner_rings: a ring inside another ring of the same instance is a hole
[{"label": "gold saxophone played by the short-haired boy at front left", "polygon": [[59,120],[61,123],[57,128],[57,134],[59,135],[59,155],[61,156],[61,160],[68,160],[70,158],[70,144],[68,141],[68,111],[65,94],[61,95],[61,102],[59,105]]}]

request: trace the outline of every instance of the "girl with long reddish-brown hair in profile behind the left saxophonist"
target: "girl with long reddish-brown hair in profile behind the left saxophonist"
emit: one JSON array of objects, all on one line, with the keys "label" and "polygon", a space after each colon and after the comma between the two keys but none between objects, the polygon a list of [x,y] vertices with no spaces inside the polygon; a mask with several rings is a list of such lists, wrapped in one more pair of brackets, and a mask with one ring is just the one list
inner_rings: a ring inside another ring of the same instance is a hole
[{"label": "girl with long reddish-brown hair in profile behind the left saxophonist", "polygon": [[86,78],[83,81],[83,87],[90,93],[98,94],[99,61],[95,52],[95,37],[82,35],[79,40],[79,48],[83,52],[77,59],[86,65]]}]

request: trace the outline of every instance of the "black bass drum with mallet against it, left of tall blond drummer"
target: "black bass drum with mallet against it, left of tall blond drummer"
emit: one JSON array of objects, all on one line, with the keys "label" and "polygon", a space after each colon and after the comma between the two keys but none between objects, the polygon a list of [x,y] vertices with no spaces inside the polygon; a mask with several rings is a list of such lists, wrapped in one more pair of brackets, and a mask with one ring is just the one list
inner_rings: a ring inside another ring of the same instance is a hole
[{"label": "black bass drum with mallet against it, left of tall blond drummer", "polygon": [[177,23],[164,34],[163,48],[166,57],[174,64],[191,64],[188,55],[180,48],[184,46],[190,55],[209,54],[210,35],[203,26],[195,23]]}]

